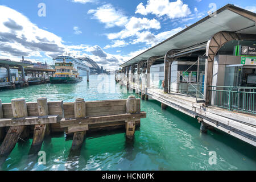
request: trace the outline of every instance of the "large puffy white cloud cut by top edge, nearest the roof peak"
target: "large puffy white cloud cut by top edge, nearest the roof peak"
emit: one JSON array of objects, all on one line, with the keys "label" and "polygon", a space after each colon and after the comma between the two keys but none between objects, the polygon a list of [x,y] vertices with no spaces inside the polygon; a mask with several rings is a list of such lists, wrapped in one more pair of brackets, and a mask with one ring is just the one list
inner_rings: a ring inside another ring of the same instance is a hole
[{"label": "large puffy white cloud cut by top edge, nearest the roof peak", "polygon": [[183,4],[181,0],[170,2],[169,0],[148,0],[147,5],[140,3],[135,13],[142,15],[154,14],[157,16],[167,15],[168,18],[184,18],[191,14],[188,5]]}]

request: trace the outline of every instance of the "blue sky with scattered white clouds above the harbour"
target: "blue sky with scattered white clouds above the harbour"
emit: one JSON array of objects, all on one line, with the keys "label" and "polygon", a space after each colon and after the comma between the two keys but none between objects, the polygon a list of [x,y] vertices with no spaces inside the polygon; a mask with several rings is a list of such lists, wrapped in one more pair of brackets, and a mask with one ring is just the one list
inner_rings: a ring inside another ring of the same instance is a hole
[{"label": "blue sky with scattered white clouds above the harbour", "polygon": [[113,70],[228,3],[256,13],[251,0],[0,0],[0,58],[67,52]]}]

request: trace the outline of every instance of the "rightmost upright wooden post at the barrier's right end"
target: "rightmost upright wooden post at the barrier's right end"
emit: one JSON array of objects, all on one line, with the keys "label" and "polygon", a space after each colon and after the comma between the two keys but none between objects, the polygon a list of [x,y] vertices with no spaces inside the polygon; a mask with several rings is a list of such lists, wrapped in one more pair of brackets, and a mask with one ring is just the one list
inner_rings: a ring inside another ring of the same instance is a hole
[{"label": "rightmost upright wooden post at the barrier's right end", "polygon": [[[135,96],[129,96],[126,101],[126,113],[136,113],[137,112],[137,99]],[[133,140],[135,133],[135,120],[125,121],[126,137]]]}]

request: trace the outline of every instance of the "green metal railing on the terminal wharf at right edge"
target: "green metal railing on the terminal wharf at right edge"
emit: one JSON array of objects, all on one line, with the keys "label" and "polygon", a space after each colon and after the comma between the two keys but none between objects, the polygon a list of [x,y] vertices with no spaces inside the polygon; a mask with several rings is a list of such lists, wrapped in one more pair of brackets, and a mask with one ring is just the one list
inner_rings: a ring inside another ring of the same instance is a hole
[{"label": "green metal railing on the terminal wharf at right edge", "polygon": [[256,114],[256,87],[209,86],[210,104],[228,110]]}]

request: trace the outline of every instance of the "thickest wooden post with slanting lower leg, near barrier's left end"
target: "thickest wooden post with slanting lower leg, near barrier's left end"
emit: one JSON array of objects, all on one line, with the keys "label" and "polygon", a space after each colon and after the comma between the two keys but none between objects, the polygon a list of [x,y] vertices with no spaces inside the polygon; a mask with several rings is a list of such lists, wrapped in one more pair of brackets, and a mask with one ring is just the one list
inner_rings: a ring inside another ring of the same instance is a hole
[{"label": "thickest wooden post with slanting lower leg, near barrier's left end", "polygon": [[[15,98],[11,100],[14,118],[27,117],[27,104],[24,98]],[[20,134],[26,126],[11,126],[8,130],[5,139],[0,147],[0,156],[9,155],[15,147]]]}]

